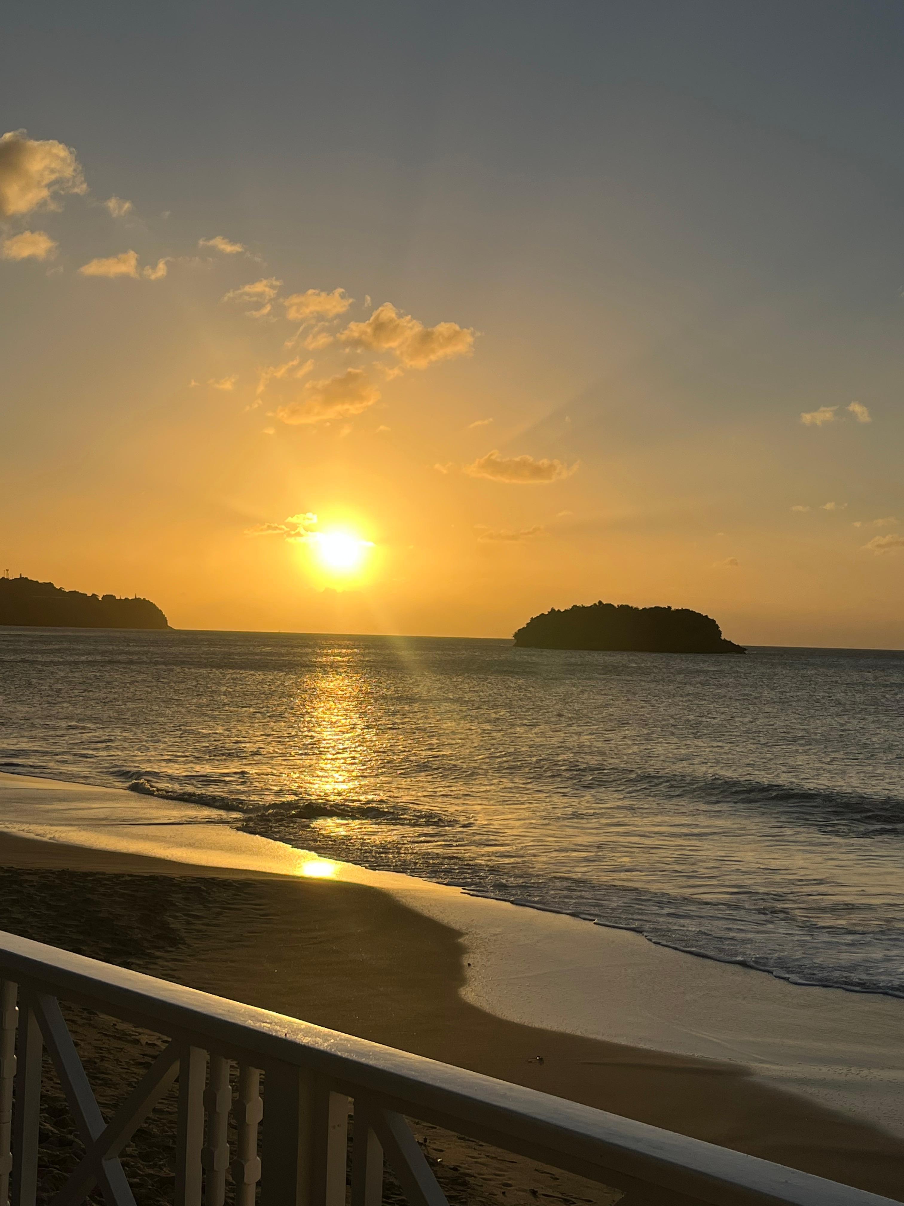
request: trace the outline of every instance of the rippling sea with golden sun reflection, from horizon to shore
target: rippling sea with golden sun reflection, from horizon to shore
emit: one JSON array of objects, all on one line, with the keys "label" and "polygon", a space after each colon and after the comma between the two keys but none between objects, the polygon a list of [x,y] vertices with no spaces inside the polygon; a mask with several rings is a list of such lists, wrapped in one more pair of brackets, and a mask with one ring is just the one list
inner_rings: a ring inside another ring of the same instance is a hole
[{"label": "rippling sea with golden sun reflection, from horizon to shore", "polygon": [[0,771],[894,996],[903,699],[896,651],[0,628]]}]

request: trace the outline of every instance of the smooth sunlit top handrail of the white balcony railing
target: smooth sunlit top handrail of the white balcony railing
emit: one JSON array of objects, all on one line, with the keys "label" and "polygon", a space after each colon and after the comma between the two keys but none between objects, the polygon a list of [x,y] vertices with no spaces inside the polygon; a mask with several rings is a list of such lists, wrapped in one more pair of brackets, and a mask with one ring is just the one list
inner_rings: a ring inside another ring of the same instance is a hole
[{"label": "smooth sunlit top handrail of the white balcony railing", "polygon": [[160,1034],[202,1036],[248,1061],[306,1067],[391,1099],[415,1117],[529,1143],[588,1170],[605,1169],[723,1204],[891,1206],[892,1200],[786,1169],[535,1089],[497,1081],[284,1014],[128,971],[0,931],[0,978],[141,1020]]}]

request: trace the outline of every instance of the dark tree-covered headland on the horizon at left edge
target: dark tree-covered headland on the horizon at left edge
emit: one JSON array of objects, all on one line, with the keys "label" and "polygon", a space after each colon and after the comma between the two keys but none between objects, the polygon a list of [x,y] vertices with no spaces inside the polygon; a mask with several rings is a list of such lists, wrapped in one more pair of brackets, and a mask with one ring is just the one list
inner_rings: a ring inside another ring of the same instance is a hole
[{"label": "dark tree-covered headland on the horizon at left edge", "polygon": [[64,591],[31,578],[0,578],[0,625],[41,628],[169,628],[149,599]]}]

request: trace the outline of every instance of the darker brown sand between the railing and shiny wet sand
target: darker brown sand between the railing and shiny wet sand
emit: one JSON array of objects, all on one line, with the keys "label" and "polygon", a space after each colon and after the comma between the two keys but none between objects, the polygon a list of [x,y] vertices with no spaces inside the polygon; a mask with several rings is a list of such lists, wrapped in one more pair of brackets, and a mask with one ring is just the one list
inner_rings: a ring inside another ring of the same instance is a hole
[{"label": "darker brown sand between the railing and shiny wet sand", "polygon": [[370,884],[8,833],[0,866],[10,931],[904,1198],[900,1138],[782,1091],[742,1062],[476,1006],[465,999],[463,933]]}]

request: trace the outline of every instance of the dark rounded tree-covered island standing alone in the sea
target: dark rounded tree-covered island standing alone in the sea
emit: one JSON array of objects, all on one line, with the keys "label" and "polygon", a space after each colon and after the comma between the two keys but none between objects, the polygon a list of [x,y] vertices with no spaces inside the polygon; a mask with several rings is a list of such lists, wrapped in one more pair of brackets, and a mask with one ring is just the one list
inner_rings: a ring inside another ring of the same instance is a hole
[{"label": "dark rounded tree-covered island standing alone in the sea", "polygon": [[746,654],[715,620],[688,608],[591,603],[552,608],[515,633],[522,649],[611,649],[651,654]]}]

